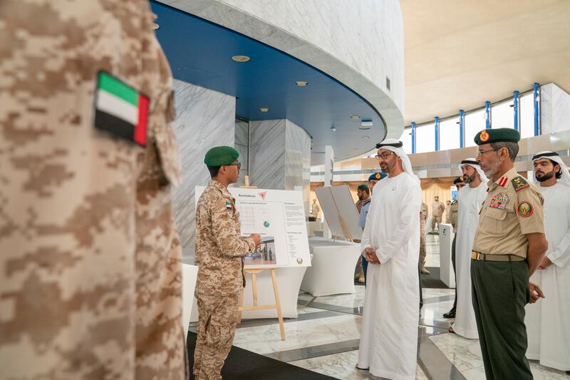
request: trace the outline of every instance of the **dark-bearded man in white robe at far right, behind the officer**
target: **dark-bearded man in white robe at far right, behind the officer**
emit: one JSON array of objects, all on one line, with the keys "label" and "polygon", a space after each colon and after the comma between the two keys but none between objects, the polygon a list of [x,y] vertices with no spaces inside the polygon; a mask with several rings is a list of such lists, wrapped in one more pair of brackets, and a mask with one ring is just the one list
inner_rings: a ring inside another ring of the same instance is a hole
[{"label": "dark-bearded man in white robe at far right, behind the officer", "polygon": [[534,183],[544,196],[548,250],[531,281],[546,296],[527,304],[527,358],[570,371],[570,173],[558,153],[534,155]]}]

